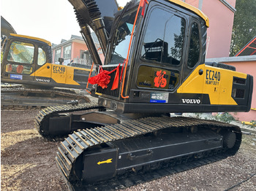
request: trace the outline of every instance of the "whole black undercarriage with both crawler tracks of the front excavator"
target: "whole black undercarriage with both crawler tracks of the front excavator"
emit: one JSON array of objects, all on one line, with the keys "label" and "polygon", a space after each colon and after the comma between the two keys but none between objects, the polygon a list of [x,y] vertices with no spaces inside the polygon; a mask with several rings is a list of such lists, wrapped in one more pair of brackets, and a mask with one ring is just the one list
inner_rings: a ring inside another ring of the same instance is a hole
[{"label": "whole black undercarriage with both crawler tracks of the front excavator", "polygon": [[118,114],[97,104],[50,106],[36,118],[42,136],[64,140],[56,162],[72,187],[218,153],[234,155],[241,144],[236,125],[167,114]]}]

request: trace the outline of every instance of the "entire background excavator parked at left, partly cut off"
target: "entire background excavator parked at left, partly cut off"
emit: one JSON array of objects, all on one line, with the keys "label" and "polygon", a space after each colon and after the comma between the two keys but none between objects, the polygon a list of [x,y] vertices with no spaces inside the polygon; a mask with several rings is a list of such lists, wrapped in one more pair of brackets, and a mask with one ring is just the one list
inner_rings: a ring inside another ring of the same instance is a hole
[{"label": "entire background excavator parked at left, partly cut off", "polygon": [[1,34],[4,35],[1,82],[16,84],[1,85],[1,106],[50,106],[73,99],[80,103],[90,101],[86,95],[70,88],[86,88],[91,66],[80,68],[51,63],[50,42],[12,32],[15,31],[10,23],[1,17]]}]

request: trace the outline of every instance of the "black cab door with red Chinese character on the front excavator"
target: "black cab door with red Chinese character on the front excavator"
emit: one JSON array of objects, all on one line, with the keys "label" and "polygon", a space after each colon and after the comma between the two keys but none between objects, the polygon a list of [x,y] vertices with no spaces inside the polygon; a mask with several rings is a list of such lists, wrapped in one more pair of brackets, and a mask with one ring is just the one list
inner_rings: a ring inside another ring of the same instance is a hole
[{"label": "black cab door with red Chinese character on the front excavator", "polygon": [[171,7],[154,1],[148,5],[129,99],[152,105],[179,104],[181,95],[176,90],[182,78],[188,20]]}]

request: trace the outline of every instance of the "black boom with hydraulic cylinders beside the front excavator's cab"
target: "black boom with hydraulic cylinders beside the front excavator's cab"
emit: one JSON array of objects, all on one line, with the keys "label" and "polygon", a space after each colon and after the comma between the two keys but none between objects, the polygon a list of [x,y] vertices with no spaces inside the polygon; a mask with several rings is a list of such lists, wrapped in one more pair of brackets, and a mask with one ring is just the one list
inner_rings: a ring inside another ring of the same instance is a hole
[{"label": "black boom with hydraulic cylinders beside the front excavator's cab", "polygon": [[[94,1],[94,0],[69,0],[75,9],[81,34],[85,39],[91,57],[97,65],[102,65],[97,48],[91,37],[91,29],[97,35],[102,52],[105,54],[108,45],[108,34],[112,27],[114,14],[117,12],[116,0]],[[102,11],[104,10],[104,11]],[[105,26],[105,23],[107,26]]]}]

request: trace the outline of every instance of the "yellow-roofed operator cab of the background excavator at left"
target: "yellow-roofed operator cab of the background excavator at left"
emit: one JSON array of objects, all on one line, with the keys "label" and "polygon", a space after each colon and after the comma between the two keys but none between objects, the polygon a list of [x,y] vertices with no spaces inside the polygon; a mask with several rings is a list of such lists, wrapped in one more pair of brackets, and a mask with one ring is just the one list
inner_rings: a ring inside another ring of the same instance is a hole
[{"label": "yellow-roofed operator cab of the background excavator at left", "polygon": [[[42,39],[10,34],[3,44],[1,61],[2,82],[34,82],[35,71],[51,62],[51,44]],[[50,82],[50,72],[45,80]]]}]

